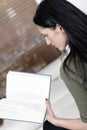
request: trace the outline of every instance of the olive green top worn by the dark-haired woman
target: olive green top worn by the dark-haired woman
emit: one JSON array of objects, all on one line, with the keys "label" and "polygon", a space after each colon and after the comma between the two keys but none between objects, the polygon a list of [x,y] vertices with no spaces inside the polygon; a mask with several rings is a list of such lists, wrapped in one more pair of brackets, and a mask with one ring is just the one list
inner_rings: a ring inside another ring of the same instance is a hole
[{"label": "olive green top worn by the dark-haired woman", "polygon": [[[87,72],[87,64],[86,64],[86,71]],[[65,82],[67,88],[69,89],[70,93],[72,94],[78,110],[80,112],[80,117],[83,122],[87,122],[87,81],[83,82],[82,77],[83,74],[79,76],[76,72],[75,66],[73,62],[70,63],[70,68],[75,72],[68,72],[68,75],[63,70],[63,65],[60,68],[60,76]],[[82,70],[82,67],[81,67]],[[87,74],[87,73],[86,73]]]}]

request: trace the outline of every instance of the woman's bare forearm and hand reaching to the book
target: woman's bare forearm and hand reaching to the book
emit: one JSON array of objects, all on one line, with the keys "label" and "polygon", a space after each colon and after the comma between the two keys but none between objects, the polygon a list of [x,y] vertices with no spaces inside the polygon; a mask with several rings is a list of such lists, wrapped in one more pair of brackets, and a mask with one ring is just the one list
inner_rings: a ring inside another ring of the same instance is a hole
[{"label": "woman's bare forearm and hand reaching to the book", "polygon": [[67,128],[70,130],[87,130],[87,123],[81,119],[64,119],[56,117],[52,111],[51,103],[46,99],[47,114],[46,119],[55,126]]}]

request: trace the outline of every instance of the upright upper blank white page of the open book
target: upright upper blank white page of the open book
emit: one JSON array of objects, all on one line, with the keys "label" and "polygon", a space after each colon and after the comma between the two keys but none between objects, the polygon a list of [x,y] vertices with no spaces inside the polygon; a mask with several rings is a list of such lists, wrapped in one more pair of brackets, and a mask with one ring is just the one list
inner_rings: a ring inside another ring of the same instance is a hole
[{"label": "upright upper blank white page of the open book", "polygon": [[9,71],[7,98],[44,103],[49,96],[50,76]]}]

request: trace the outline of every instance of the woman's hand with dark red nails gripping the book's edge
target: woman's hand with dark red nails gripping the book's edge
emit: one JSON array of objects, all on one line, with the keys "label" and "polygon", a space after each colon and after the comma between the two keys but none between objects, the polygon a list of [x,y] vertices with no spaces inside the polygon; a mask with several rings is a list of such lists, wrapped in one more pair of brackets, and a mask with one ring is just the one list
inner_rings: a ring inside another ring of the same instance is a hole
[{"label": "woman's hand with dark red nails gripping the book's edge", "polygon": [[46,120],[48,120],[50,123],[55,124],[56,116],[52,110],[51,103],[48,99],[45,101],[46,103]]}]

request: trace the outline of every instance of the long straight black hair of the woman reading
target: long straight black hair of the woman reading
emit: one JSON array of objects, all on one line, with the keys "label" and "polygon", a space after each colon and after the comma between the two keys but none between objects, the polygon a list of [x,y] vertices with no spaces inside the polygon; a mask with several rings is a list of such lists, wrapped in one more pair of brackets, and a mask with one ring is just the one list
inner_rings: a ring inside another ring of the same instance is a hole
[{"label": "long straight black hair of the woman reading", "polygon": [[43,0],[36,10],[33,21],[42,27],[55,29],[56,24],[63,27],[68,35],[71,50],[63,63],[63,68],[65,72],[71,70],[69,64],[74,60],[78,74],[81,76],[82,70],[84,75],[82,80],[87,81],[87,15],[66,0]]}]

